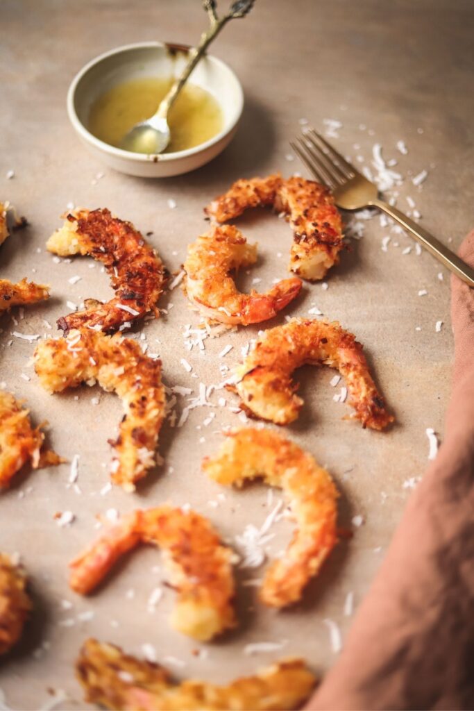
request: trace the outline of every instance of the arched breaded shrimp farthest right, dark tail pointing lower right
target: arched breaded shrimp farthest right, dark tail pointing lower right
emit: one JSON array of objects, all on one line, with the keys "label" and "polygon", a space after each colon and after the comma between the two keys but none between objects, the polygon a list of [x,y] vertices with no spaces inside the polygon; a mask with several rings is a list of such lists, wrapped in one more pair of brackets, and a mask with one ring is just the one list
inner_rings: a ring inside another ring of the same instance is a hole
[{"label": "arched breaded shrimp farthest right, dark tail pointing lower right", "polygon": [[385,409],[379,395],[362,345],[355,336],[333,321],[291,319],[284,326],[265,331],[254,349],[239,365],[235,374],[236,390],[249,412],[275,424],[289,424],[298,417],[303,405],[295,395],[291,381],[295,368],[311,365],[330,365],[337,368],[348,387],[350,405],[363,427],[384,429],[394,417]]}]

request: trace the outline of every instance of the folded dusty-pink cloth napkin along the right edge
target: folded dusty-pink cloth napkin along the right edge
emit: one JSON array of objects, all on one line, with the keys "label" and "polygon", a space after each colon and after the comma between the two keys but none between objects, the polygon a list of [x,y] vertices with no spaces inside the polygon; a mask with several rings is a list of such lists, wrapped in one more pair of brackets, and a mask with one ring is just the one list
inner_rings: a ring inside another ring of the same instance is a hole
[{"label": "folded dusty-pink cloth napkin along the right edge", "polygon": [[[474,266],[474,231],[460,257]],[[474,289],[451,277],[443,444],[311,710],[474,709]]]}]

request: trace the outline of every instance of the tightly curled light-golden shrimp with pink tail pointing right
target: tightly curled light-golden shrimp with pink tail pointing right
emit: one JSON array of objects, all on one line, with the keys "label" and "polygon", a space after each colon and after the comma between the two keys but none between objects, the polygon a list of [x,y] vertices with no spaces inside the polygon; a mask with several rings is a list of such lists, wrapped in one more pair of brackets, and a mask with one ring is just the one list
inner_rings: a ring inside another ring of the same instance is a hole
[{"label": "tightly curled light-golden shrimp with pink tail pointing right", "polygon": [[293,277],[275,284],[266,294],[242,294],[230,276],[233,269],[249,267],[257,261],[257,245],[232,225],[215,226],[188,245],[184,264],[188,299],[206,316],[222,324],[259,324],[273,319],[301,289]]}]

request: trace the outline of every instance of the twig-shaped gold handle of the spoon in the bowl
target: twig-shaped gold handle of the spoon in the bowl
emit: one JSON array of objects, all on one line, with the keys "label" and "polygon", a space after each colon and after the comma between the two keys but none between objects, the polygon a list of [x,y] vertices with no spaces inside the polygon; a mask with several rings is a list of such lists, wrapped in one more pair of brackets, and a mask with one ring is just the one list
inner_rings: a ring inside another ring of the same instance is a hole
[{"label": "twig-shaped gold handle of the spoon in the bowl", "polygon": [[155,114],[156,118],[166,119],[168,111],[176,101],[176,98],[178,97],[179,92],[181,92],[186,80],[188,80],[190,73],[193,71],[195,65],[203,56],[212,40],[220,33],[222,27],[224,27],[229,20],[232,20],[232,18],[244,17],[252,8],[253,4],[254,0],[237,0],[230,8],[227,15],[218,18],[215,11],[215,1],[203,0],[203,6],[208,11],[210,17],[210,27],[208,28],[208,31],[203,32],[201,35],[198,46],[190,50],[188,63],[185,65],[181,75],[174,80],[173,86],[168,91],[166,97],[161,100]]}]

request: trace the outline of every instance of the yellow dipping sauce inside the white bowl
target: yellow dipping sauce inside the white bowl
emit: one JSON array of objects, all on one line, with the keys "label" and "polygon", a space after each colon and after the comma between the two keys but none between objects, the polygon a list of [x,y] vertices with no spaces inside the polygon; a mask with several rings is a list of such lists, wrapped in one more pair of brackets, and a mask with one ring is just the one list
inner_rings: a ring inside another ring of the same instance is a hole
[{"label": "yellow dipping sauce inside the white bowl", "polygon": [[[92,105],[90,132],[111,146],[120,147],[135,124],[153,116],[173,79],[132,79],[109,89]],[[209,92],[185,84],[168,113],[171,141],[163,153],[198,146],[222,130],[222,110]]]}]

